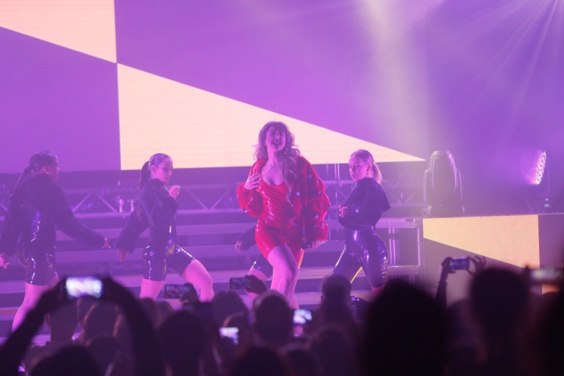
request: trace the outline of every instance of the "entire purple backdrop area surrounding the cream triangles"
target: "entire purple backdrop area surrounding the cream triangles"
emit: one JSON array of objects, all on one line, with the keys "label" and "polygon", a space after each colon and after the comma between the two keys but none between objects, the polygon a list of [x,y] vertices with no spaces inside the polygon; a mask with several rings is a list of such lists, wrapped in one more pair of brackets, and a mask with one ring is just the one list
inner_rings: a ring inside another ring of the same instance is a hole
[{"label": "entire purple backdrop area surrounding the cream triangles", "polygon": [[[114,1],[117,63],[427,158],[475,212],[564,191],[564,2]],[[116,63],[0,27],[0,172],[120,168]],[[508,209],[509,208],[509,209]],[[470,210],[469,213],[473,213]],[[526,211],[526,208],[524,209]]]}]

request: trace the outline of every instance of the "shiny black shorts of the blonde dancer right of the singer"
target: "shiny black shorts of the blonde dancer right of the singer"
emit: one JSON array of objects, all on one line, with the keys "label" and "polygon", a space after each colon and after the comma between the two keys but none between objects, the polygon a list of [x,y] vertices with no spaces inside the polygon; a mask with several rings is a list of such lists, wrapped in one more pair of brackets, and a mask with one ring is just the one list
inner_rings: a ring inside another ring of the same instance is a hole
[{"label": "shiny black shorts of the blonde dancer right of the singer", "polygon": [[387,260],[386,243],[376,234],[375,228],[347,229],[345,249],[333,273],[345,276],[352,283],[362,268],[370,286],[380,287],[387,281]]}]

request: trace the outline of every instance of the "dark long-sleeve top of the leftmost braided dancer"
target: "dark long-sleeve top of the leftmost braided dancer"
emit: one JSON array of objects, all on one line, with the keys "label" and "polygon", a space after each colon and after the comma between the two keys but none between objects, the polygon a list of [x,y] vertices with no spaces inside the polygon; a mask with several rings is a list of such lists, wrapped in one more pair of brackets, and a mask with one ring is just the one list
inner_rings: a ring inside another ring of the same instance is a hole
[{"label": "dark long-sleeve top of the leftmost braided dancer", "polygon": [[18,240],[20,244],[52,248],[56,241],[55,229],[91,246],[104,246],[102,235],[74,217],[63,190],[45,174],[37,174],[20,183],[10,198],[0,236],[0,253],[13,255]]}]

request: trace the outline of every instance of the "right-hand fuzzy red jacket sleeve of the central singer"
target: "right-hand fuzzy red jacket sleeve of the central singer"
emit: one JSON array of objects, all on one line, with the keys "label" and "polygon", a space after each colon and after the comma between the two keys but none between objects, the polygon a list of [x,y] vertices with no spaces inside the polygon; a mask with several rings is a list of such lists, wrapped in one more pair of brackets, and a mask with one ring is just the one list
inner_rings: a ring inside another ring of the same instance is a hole
[{"label": "right-hand fuzzy red jacket sleeve of the central singer", "polygon": [[325,216],[329,211],[329,198],[325,194],[325,184],[315,172],[314,167],[305,158],[301,158],[298,168],[301,178],[302,218],[305,226],[306,241],[327,240],[329,228]]}]

